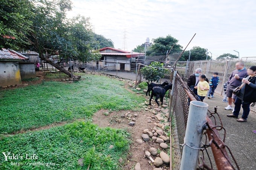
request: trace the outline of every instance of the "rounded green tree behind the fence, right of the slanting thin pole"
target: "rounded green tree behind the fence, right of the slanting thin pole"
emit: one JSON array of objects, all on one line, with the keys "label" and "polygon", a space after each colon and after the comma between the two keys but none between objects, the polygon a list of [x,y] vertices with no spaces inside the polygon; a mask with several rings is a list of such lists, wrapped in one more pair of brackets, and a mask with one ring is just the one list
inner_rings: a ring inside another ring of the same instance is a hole
[{"label": "rounded green tree behind the fence, right of the slanting thin pole", "polygon": [[[195,46],[190,50],[190,61],[206,60],[207,55],[208,55],[207,50],[205,48]],[[189,59],[189,50],[184,51],[184,53],[180,58],[180,61],[187,61],[188,59]],[[211,59],[211,57],[208,55],[207,59]]]}]

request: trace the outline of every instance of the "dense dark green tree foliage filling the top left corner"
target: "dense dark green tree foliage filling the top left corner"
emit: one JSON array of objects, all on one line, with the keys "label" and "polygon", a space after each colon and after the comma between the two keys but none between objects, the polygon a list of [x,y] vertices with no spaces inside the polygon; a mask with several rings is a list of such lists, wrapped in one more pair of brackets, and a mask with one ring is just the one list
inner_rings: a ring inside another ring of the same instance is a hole
[{"label": "dense dark green tree foliage filling the top left corner", "polygon": [[32,26],[30,0],[1,0],[0,3],[0,49],[18,50],[29,44],[26,34]]}]

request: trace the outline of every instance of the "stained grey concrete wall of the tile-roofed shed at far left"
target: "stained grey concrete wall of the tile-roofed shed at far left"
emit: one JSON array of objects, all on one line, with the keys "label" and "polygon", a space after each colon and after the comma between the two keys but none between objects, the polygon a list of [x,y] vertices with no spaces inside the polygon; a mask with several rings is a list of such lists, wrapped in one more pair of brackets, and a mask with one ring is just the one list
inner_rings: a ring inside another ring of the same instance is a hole
[{"label": "stained grey concrete wall of the tile-roofed shed at far left", "polygon": [[9,86],[21,83],[18,62],[0,61],[0,86]]}]

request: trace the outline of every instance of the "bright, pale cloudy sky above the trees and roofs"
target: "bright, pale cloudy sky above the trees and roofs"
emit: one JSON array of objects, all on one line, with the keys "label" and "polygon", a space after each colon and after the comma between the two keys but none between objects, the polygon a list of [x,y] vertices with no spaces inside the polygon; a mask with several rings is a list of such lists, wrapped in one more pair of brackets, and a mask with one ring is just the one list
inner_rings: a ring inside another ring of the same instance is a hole
[{"label": "bright, pale cloudy sky above the trees and roofs", "polygon": [[186,47],[207,48],[213,58],[223,53],[256,56],[255,0],[73,0],[68,17],[91,18],[95,33],[112,39],[115,48],[126,50],[147,37],[168,34]]}]

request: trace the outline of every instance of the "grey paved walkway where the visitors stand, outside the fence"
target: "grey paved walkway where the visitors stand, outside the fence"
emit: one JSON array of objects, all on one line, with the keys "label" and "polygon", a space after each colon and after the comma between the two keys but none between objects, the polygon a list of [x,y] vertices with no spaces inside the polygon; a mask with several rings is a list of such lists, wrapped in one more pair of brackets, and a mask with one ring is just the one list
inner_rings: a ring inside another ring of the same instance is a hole
[{"label": "grey paved walkway where the visitors stand, outside the fence", "polygon": [[[229,146],[233,155],[238,162],[241,170],[256,169],[256,134],[252,131],[256,130],[256,113],[250,112],[247,122],[237,122],[235,118],[227,117],[226,114],[231,114],[232,110],[225,110],[227,103],[222,102],[222,96],[215,94],[215,98],[204,99],[204,102],[209,104],[209,109],[214,110],[218,106],[219,113],[226,128],[225,144]],[[242,116],[242,108],[239,117]],[[220,133],[221,134],[221,133]]]}]

